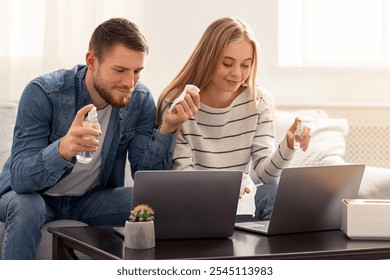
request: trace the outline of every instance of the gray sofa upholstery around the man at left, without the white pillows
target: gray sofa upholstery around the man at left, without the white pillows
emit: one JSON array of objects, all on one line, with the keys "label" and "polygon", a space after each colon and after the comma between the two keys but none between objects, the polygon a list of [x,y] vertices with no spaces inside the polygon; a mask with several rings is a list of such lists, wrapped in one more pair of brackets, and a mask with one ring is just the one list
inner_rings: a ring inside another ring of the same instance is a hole
[{"label": "gray sofa upholstery around the man at left, without the white pillows", "polygon": [[[16,103],[0,102],[0,170],[3,169],[4,163],[10,155],[16,110]],[[52,258],[52,235],[47,231],[48,227],[81,225],[85,226],[86,224],[74,220],[58,220],[44,225],[42,228],[42,241],[38,250],[38,259]],[[4,223],[0,222],[0,250],[3,245],[3,238]]]}]

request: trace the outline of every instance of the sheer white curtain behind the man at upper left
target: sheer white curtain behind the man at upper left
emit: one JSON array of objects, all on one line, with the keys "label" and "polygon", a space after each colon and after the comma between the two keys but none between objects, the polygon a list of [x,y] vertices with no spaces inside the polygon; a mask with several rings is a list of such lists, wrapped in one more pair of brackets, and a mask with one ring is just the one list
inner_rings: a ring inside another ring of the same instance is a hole
[{"label": "sheer white curtain behind the man at upper left", "polygon": [[142,29],[142,0],[0,0],[0,100],[36,76],[83,64],[97,25],[125,17]]}]

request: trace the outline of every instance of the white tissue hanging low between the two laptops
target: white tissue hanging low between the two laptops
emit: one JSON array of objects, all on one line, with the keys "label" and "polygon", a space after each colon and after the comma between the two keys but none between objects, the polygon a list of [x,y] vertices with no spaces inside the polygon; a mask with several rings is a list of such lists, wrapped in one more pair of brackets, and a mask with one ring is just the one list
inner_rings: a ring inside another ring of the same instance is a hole
[{"label": "white tissue hanging low between the two laptops", "polygon": [[[245,187],[250,189],[250,193],[244,193]],[[238,201],[237,215],[252,215],[255,216],[256,204],[256,185],[253,183],[251,177],[247,174],[242,175],[240,199]]]}]

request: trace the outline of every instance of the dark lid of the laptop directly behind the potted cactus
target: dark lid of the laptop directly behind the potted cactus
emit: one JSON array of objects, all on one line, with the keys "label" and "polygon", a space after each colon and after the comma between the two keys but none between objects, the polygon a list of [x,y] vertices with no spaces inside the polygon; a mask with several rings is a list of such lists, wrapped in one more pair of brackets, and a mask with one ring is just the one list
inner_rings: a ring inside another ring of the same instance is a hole
[{"label": "dark lid of the laptop directly behind the potted cactus", "polygon": [[156,239],[233,235],[241,171],[138,171],[132,205],[155,210]]}]

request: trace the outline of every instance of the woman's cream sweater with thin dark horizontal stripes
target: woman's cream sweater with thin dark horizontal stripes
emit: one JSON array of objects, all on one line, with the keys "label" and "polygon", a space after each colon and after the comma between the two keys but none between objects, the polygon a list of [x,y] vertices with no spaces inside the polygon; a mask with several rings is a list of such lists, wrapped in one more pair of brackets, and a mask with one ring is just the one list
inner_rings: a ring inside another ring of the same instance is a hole
[{"label": "woman's cream sweater with thin dark horizontal stripes", "polygon": [[287,147],[286,138],[275,147],[271,100],[265,93],[259,94],[258,105],[248,89],[227,108],[201,104],[199,112],[178,132],[172,169],[254,171],[263,183],[277,181],[294,151]]}]

